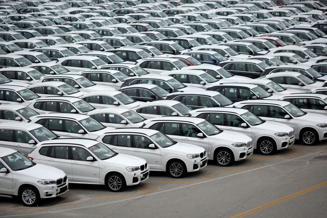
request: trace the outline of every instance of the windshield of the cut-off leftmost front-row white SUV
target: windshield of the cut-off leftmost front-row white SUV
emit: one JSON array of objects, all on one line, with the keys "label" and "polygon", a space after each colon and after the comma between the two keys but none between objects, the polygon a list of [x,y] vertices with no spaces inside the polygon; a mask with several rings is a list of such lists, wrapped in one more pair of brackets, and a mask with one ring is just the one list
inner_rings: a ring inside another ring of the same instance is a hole
[{"label": "windshield of the cut-off leftmost front-row white SUV", "polygon": [[19,152],[15,152],[13,154],[4,156],[1,158],[11,170],[18,171],[18,170],[25,170],[29,167],[36,165],[30,159],[26,158]]}]

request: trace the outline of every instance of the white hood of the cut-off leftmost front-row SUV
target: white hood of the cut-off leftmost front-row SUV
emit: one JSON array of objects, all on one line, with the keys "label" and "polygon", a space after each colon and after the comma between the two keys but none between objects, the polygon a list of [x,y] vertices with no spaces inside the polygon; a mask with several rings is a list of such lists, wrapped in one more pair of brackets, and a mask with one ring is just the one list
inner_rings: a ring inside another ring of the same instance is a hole
[{"label": "white hood of the cut-off leftmost front-row SUV", "polygon": [[37,163],[35,166],[25,170],[19,170],[16,172],[21,175],[23,174],[25,176],[36,178],[37,180],[35,182],[42,179],[50,179],[56,181],[57,179],[63,178],[66,175],[62,170],[40,163]]}]

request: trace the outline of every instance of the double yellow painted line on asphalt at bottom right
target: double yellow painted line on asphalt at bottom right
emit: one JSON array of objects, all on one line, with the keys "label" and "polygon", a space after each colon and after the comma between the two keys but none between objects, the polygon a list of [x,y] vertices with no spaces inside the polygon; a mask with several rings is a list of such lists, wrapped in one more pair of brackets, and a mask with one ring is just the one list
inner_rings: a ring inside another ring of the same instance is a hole
[{"label": "double yellow painted line on asphalt at bottom right", "polygon": [[279,199],[277,199],[277,200],[271,201],[271,202],[269,202],[269,203],[267,203],[267,204],[261,205],[261,206],[259,206],[259,207],[253,208],[253,209],[251,209],[251,210],[247,210],[247,211],[245,211],[245,212],[243,212],[243,213],[240,213],[240,214],[237,214],[237,215],[235,215],[235,216],[232,216],[231,218],[236,218],[236,217],[237,217],[237,218],[241,218],[241,217],[248,216],[248,215],[253,214],[253,213],[255,213],[255,212],[258,212],[258,211],[260,211],[260,210],[264,210],[264,209],[266,209],[266,208],[269,208],[269,207],[274,206],[274,205],[276,205],[276,204],[282,203],[282,202],[287,201],[287,200],[289,200],[289,199],[295,198],[295,197],[300,196],[300,195],[302,195],[302,194],[305,194],[305,193],[311,192],[311,191],[313,191],[313,190],[316,190],[316,189],[321,188],[321,187],[326,186],[326,185],[327,185],[327,182],[323,182],[323,183],[320,183],[320,184],[318,184],[318,185],[311,186],[310,188],[303,189],[303,190],[301,190],[300,192],[296,192],[296,193],[293,193],[293,194],[287,195],[287,196],[285,196],[285,197],[282,197],[282,198],[279,198]]}]

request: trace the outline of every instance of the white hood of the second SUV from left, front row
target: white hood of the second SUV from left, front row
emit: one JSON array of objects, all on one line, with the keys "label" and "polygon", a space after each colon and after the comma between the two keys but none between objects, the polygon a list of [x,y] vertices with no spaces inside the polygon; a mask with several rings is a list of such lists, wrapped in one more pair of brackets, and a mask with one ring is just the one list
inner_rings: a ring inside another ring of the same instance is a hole
[{"label": "white hood of the second SUV from left, front row", "polygon": [[112,165],[112,163],[113,163],[114,165],[118,165],[118,164],[125,165],[125,167],[141,166],[146,163],[146,160],[143,158],[138,158],[138,157],[134,157],[131,155],[126,155],[126,154],[118,154],[112,158],[102,160],[102,161],[100,161],[100,162],[102,162],[101,164],[110,163],[110,165]]}]

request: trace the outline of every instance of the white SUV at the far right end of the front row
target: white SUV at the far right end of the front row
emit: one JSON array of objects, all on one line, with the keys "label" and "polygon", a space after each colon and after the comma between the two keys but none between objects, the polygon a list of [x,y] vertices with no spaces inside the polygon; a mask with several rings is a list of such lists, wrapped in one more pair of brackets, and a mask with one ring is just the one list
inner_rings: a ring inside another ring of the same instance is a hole
[{"label": "white SUV at the far right end of the front row", "polygon": [[251,111],[263,120],[286,124],[295,130],[295,139],[313,145],[327,139],[327,119],[324,115],[303,112],[287,101],[250,100],[234,104]]}]

